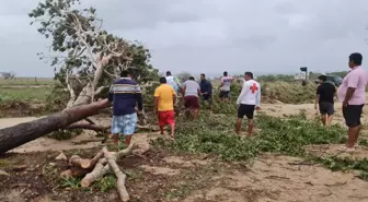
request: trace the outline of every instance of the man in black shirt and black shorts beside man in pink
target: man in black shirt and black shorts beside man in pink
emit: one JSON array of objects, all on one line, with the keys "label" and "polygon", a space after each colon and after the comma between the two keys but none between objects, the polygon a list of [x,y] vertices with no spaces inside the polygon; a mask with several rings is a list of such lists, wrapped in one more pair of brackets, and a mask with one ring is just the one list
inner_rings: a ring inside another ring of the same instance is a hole
[{"label": "man in black shirt and black shorts beside man in pink", "polygon": [[334,114],[334,96],[336,95],[336,87],[331,82],[327,82],[325,75],[320,75],[320,85],[317,88],[317,96],[314,108],[320,108],[321,120],[323,126],[330,128]]}]

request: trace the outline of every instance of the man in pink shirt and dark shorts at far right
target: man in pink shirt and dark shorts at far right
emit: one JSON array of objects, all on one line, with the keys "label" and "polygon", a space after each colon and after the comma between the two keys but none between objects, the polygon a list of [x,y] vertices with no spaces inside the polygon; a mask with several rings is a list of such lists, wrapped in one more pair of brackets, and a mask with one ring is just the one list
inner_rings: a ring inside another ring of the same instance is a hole
[{"label": "man in pink shirt and dark shorts at far right", "polygon": [[348,140],[341,151],[354,151],[361,128],[360,116],[366,104],[367,72],[361,68],[363,56],[358,52],[349,56],[348,67],[352,69],[337,90],[337,97],[343,103],[343,115],[348,127]]}]

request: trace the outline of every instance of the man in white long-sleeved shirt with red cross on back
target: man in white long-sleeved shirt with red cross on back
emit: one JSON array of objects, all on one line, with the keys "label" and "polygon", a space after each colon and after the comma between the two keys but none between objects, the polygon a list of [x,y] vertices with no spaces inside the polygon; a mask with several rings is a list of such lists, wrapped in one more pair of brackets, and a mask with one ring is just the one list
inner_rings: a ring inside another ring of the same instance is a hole
[{"label": "man in white long-sleeved shirt with red cross on back", "polygon": [[243,83],[242,91],[238,97],[237,105],[238,119],[237,119],[237,133],[240,134],[240,129],[242,124],[242,119],[244,116],[248,118],[248,133],[252,135],[253,133],[253,117],[254,109],[260,110],[261,105],[261,85],[258,82],[253,80],[252,72],[245,72],[245,82]]}]

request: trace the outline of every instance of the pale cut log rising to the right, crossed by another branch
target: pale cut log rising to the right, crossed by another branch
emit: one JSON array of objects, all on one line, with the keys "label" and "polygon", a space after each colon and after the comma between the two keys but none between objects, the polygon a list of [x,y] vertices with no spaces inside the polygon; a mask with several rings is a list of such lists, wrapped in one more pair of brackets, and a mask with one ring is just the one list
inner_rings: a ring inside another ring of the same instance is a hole
[{"label": "pale cut log rising to the right, crossed by another branch", "polygon": [[[115,159],[119,159],[124,156],[130,155],[135,144],[130,144],[127,148],[122,150],[117,153],[111,153],[110,155]],[[105,165],[106,164],[106,165]],[[107,164],[107,158],[100,158],[97,164],[94,166],[93,170],[85,175],[85,177],[81,181],[81,186],[83,188],[90,187],[94,181],[102,179],[110,171],[110,165]]]}]

